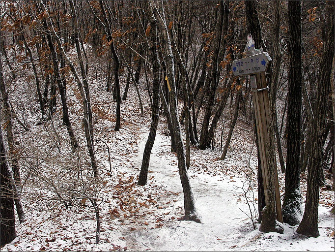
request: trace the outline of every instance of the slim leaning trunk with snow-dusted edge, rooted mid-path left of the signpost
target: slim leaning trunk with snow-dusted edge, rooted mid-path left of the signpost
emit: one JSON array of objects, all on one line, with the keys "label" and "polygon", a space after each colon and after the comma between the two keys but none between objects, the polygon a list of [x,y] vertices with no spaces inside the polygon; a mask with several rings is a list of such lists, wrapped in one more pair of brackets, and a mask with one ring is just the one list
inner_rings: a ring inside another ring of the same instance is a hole
[{"label": "slim leaning trunk with snow-dusted edge, rooted mid-path left of the signpost", "polygon": [[[168,90],[169,90],[169,105],[171,111],[171,119],[173,124],[174,137],[176,140],[177,147],[177,159],[178,159],[178,170],[179,176],[181,180],[181,184],[184,192],[184,210],[185,216],[184,220],[201,222],[201,217],[197,213],[195,209],[195,200],[193,191],[190,184],[190,179],[187,174],[186,169],[186,156],[185,156],[185,148],[183,144],[183,139],[181,136],[181,129],[178,120],[178,110],[177,110],[177,93],[176,93],[176,85],[174,79],[174,63],[173,63],[173,54],[171,49],[171,41],[168,35],[168,26],[165,21],[164,7],[163,1],[159,3],[152,2],[153,4],[160,4],[160,10],[155,6],[154,14],[156,19],[159,20],[161,32],[163,33],[164,40],[163,46],[166,49],[166,64],[167,64],[167,81],[168,81]],[[150,4],[150,3],[149,3]],[[161,16],[162,15],[162,16]]]}]

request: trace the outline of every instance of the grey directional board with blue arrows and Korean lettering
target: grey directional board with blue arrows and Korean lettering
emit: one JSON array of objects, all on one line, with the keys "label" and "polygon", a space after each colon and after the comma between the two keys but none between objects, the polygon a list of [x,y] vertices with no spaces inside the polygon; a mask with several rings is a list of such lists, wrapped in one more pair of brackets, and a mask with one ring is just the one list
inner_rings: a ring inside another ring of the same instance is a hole
[{"label": "grey directional board with blue arrows and Korean lettering", "polygon": [[259,53],[247,58],[233,61],[232,69],[235,76],[265,72],[271,61],[268,53]]}]

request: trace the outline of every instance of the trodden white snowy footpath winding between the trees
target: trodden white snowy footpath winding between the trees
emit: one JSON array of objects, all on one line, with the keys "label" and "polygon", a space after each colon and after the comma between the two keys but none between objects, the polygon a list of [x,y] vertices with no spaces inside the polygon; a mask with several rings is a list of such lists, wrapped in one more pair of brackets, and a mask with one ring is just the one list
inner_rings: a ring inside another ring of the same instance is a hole
[{"label": "trodden white snowy footpath winding between the trees", "polygon": [[[135,167],[140,167],[147,133],[140,135],[138,156],[134,157]],[[166,201],[173,202],[169,206],[171,212],[182,214],[183,193],[180,178],[175,165],[176,156],[169,155],[169,137],[157,134],[150,157],[149,184],[159,184],[172,192]],[[128,249],[143,251],[145,249],[162,251],[201,251],[226,250],[234,248],[241,235],[241,227],[249,225],[249,218],[239,210],[247,211],[246,205],[236,202],[234,193],[237,187],[234,181],[227,183],[229,178],[200,174],[196,170],[189,170],[191,185],[195,195],[197,210],[202,214],[202,223],[193,221],[174,221],[168,228],[146,229],[125,233]],[[176,195],[177,194],[177,195]],[[241,206],[243,205],[243,206]],[[242,216],[242,217],[241,217]],[[244,223],[246,221],[247,223]],[[196,238],[195,238],[196,237]],[[195,242],[196,239],[196,242]]]}]

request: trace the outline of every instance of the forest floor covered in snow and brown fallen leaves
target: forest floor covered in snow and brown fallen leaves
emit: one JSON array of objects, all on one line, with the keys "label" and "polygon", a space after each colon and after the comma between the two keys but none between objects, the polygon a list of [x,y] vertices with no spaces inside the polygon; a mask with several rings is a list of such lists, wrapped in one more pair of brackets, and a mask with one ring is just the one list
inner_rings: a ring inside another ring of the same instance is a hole
[{"label": "forest floor covered in snow and brown fallen leaves", "polygon": [[[288,224],[284,224],[283,234],[264,234],[259,231],[258,223],[256,228],[253,227],[251,212],[254,221],[258,218],[257,156],[252,125],[248,125],[242,115],[238,118],[225,160],[220,160],[222,122],[218,126],[214,150],[201,151],[192,146],[188,174],[202,223],[181,221],[184,199],[177,157],[170,152],[164,116],[160,116],[151,153],[148,184],[144,187],[137,185],[151,123],[144,78],[140,79],[139,87],[144,115],[140,116],[138,96],[131,83],[127,100],[121,104],[121,129],[114,131],[116,102],[112,100],[112,93],[106,92],[104,70],[97,65],[94,69],[90,68],[89,84],[95,135],[110,147],[112,165],[109,172],[107,148],[103,142],[96,140],[101,176],[101,187],[97,192],[101,219],[99,244],[95,244],[95,214],[87,200],[77,199],[75,205],[65,208],[52,189],[37,186],[43,182],[40,177],[28,177],[23,169],[22,177],[28,178],[22,193],[27,221],[20,224],[17,220],[16,239],[1,251],[334,251],[334,215],[329,212],[334,205],[334,191],[320,190],[318,238],[301,236],[295,232],[297,226]],[[32,98],[35,94],[24,78],[29,74],[22,74],[26,76],[11,82],[9,90],[16,110],[25,108],[22,114],[25,114],[30,130],[26,132],[16,126],[16,137],[22,149],[29,146],[28,151],[37,157],[31,163],[38,158],[47,160],[44,156],[51,150],[50,153],[56,157],[55,163],[50,161],[40,166],[40,169],[45,169],[41,173],[45,172],[46,178],[48,174],[51,177],[53,172],[59,172],[58,169],[66,166],[67,159],[64,158],[71,153],[68,143],[59,140],[68,138],[66,127],[61,122],[60,103],[58,100],[53,124],[48,121],[44,125],[36,125],[38,102]],[[121,92],[125,87],[125,75],[121,76]],[[83,111],[76,84],[69,83],[67,92],[71,120],[84,150],[82,164],[87,167],[84,172],[89,173],[89,158],[85,154],[81,127]],[[179,101],[180,106],[182,103]],[[226,110],[223,145],[230,122],[229,109]],[[202,115],[198,122],[201,120]],[[59,145],[63,143],[60,153],[52,148],[50,142],[53,138],[58,138]],[[278,167],[280,193],[283,194],[284,174],[280,173],[279,163]],[[302,174],[303,202],[306,199],[306,177]],[[66,174],[57,173],[55,183],[57,180],[64,182]],[[247,191],[247,197],[244,191]]]}]

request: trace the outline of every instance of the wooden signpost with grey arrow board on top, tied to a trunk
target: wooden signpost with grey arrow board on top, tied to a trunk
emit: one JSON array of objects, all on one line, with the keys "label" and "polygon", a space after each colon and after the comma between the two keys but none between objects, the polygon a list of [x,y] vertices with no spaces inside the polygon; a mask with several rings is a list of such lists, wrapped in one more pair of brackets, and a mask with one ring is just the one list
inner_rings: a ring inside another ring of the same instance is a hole
[{"label": "wooden signpost with grey arrow board on top, tied to a trunk", "polygon": [[[277,162],[275,167],[268,167],[267,158],[267,142],[269,141],[268,127],[269,127],[269,94],[268,85],[266,82],[265,71],[268,67],[271,58],[268,53],[264,53],[263,49],[254,49],[253,41],[250,35],[248,37],[248,54],[251,55],[247,58],[233,61],[232,70],[235,76],[248,75],[250,74],[251,93],[253,100],[253,108],[255,112],[256,128],[258,135],[258,146],[259,155],[262,166],[262,176],[265,194],[265,204],[268,205],[268,192],[267,185],[269,181],[268,170],[275,169],[275,202],[276,202],[276,213],[277,220],[282,221],[281,213],[281,202],[279,194],[279,182],[278,182],[278,171]],[[251,48],[251,50],[250,50]],[[257,52],[257,54],[255,54]],[[276,160],[276,157],[275,157]]]}]

